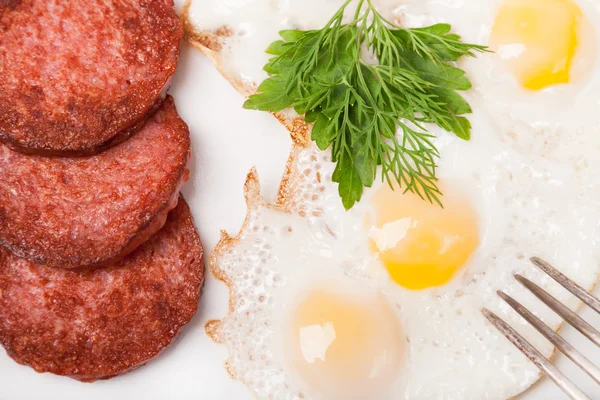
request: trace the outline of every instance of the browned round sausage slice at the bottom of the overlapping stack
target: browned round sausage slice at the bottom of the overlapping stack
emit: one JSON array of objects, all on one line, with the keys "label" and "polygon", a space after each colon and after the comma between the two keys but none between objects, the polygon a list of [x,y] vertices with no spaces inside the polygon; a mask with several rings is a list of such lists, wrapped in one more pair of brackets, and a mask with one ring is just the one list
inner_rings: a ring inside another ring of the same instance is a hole
[{"label": "browned round sausage slice at the bottom of the overlapping stack", "polygon": [[105,269],[45,267],[0,248],[0,344],[38,372],[108,379],[171,344],[195,314],[203,281],[183,199],[160,232]]}]

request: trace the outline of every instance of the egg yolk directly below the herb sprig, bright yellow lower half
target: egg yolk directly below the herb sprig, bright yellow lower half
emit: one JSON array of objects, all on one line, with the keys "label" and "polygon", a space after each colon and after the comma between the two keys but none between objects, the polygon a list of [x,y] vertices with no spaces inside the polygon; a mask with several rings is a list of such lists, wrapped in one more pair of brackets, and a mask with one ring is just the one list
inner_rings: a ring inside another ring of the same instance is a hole
[{"label": "egg yolk directly below the herb sprig, bright yellow lower half", "polygon": [[460,193],[447,191],[444,208],[388,185],[373,198],[371,249],[390,277],[407,289],[447,283],[479,245],[475,210]]}]

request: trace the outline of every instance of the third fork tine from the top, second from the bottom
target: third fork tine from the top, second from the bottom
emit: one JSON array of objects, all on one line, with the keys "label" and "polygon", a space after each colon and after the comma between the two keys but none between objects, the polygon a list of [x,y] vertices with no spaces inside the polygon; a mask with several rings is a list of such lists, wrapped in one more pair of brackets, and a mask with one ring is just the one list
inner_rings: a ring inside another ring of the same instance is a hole
[{"label": "third fork tine from the top, second from the bottom", "polygon": [[518,312],[527,322],[538,330],[546,339],[555,345],[564,355],[569,357],[575,364],[581,367],[589,376],[596,382],[600,383],[600,368],[596,367],[583,354],[577,351],[573,346],[567,343],[560,335],[550,329],[548,325],[542,322],[531,311],[522,306],[518,301],[502,291],[498,291],[498,295],[508,303],[516,312]]}]

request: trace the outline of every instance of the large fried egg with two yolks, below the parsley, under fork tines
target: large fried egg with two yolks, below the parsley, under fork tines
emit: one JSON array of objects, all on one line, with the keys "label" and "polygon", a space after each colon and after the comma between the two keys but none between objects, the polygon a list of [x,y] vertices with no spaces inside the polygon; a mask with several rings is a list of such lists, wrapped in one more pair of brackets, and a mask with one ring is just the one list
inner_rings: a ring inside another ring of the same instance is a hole
[{"label": "large fried egg with two yolks, below the parsley, under fork tines", "polygon": [[276,205],[249,175],[244,227],[224,235],[211,260],[230,288],[230,313],[207,332],[257,398],[508,399],[539,378],[480,310],[551,356],[496,291],[557,329],[560,318],[513,274],[575,308],[528,259],[551,260],[591,288],[598,193],[568,165],[525,158],[473,122],[482,134],[472,143],[439,133],[444,209],[380,183],[345,211],[334,165],[311,146],[292,152]]}]

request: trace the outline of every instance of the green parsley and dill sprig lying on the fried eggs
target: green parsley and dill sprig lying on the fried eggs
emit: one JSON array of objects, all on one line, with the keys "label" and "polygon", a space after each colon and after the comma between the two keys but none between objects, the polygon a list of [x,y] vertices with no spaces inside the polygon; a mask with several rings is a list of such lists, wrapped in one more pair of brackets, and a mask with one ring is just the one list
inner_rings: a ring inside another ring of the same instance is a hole
[{"label": "green parsley and dill sprig lying on the fried eggs", "polygon": [[[450,25],[405,29],[385,19],[372,0],[358,0],[354,18],[343,23],[347,0],[320,30],[280,32],[283,40],[264,70],[271,76],[244,104],[278,112],[293,107],[313,122],[312,139],[331,147],[333,180],[346,209],[371,187],[378,168],[430,202],[440,202],[439,153],[425,125],[433,123],[469,140],[471,112],[457,91],[471,88],[451,63],[485,51],[450,32]],[[367,61],[368,56],[376,62]],[[373,57],[374,56],[374,57]],[[396,132],[399,131],[399,134]]]}]

